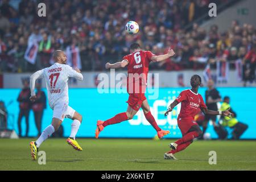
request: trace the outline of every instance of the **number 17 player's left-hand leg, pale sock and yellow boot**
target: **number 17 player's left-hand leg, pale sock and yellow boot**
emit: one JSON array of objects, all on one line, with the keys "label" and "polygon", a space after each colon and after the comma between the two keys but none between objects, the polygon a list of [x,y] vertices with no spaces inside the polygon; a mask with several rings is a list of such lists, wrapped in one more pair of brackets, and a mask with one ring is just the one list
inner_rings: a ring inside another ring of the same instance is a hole
[{"label": "number 17 player's left-hand leg, pale sock and yellow boot", "polygon": [[40,145],[44,142],[44,140],[49,138],[55,131],[59,129],[61,123],[62,121],[60,119],[52,118],[51,125],[44,129],[40,137],[35,142],[30,142],[31,157],[33,160],[36,160],[36,155]]}]

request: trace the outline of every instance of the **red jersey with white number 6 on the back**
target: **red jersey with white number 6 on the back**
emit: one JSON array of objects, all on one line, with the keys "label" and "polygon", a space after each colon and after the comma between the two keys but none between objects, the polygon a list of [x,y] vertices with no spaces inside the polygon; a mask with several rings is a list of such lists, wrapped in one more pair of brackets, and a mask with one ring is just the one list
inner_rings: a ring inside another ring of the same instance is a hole
[{"label": "red jersey with white number 6 on the back", "polygon": [[[127,92],[144,93],[147,85],[148,66],[151,57],[150,51],[137,51],[123,57],[128,61]],[[130,86],[129,86],[130,85]],[[137,88],[137,85],[139,88]]]}]

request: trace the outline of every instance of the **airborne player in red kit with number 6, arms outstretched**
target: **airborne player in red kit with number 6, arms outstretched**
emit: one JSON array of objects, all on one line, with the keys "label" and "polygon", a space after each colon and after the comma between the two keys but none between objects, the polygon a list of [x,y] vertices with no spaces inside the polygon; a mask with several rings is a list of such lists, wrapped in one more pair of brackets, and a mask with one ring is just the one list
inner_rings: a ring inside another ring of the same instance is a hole
[{"label": "airborne player in red kit with number 6, arms outstretched", "polygon": [[163,138],[164,135],[170,133],[170,131],[164,131],[158,127],[155,118],[150,112],[150,106],[148,105],[147,98],[144,96],[144,92],[147,85],[147,73],[150,61],[163,61],[174,56],[174,54],[174,51],[170,48],[167,54],[156,56],[150,51],[142,51],[138,43],[133,43],[130,46],[130,55],[124,56],[121,62],[106,64],[106,69],[128,67],[127,92],[129,93],[129,99],[127,103],[129,106],[126,112],[119,113],[113,118],[106,121],[98,120],[96,138],[98,138],[98,135],[106,126],[132,119],[141,107],[144,116],[157,131],[159,138]]}]

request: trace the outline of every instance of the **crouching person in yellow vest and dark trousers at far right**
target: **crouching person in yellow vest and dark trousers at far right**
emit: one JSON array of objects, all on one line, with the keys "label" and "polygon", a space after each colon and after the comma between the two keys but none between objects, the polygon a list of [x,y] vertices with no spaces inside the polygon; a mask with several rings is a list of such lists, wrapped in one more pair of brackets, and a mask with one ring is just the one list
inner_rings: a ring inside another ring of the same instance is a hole
[{"label": "crouching person in yellow vest and dark trousers at far right", "polygon": [[241,135],[247,130],[248,125],[246,125],[245,123],[241,123],[237,120],[237,114],[232,110],[231,106],[229,105],[230,103],[230,98],[229,97],[224,97],[224,101],[223,104],[221,105],[221,111],[224,111],[226,109],[230,108],[230,112],[234,114],[233,118],[229,118],[229,117],[221,117],[221,125],[226,127],[230,127],[231,129],[233,129],[232,131],[232,139],[239,139],[241,137]]}]

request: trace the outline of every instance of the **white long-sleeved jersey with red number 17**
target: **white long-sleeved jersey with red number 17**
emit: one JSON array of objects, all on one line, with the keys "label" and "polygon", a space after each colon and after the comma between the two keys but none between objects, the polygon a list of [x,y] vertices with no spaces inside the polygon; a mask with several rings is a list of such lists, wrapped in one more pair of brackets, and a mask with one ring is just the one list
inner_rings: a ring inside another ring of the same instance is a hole
[{"label": "white long-sleeved jersey with red number 17", "polygon": [[67,64],[55,63],[51,67],[41,69],[30,77],[31,96],[35,96],[35,81],[38,78],[46,80],[48,92],[48,102],[51,108],[59,103],[68,104],[68,78],[75,77],[77,80],[83,80],[81,73],[76,72]]}]

